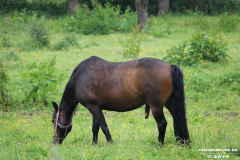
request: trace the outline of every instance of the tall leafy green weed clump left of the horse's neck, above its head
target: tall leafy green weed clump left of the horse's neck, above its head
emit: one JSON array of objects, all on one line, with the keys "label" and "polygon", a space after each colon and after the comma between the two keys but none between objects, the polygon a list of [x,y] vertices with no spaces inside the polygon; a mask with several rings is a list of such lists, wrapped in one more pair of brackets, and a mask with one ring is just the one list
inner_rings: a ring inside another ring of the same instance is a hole
[{"label": "tall leafy green weed clump left of the horse's neck, above its head", "polygon": [[57,92],[55,85],[62,81],[63,75],[57,75],[55,68],[56,58],[41,62],[34,62],[22,73],[23,81],[20,83],[26,95],[26,101],[36,106],[47,106],[50,93]]}]

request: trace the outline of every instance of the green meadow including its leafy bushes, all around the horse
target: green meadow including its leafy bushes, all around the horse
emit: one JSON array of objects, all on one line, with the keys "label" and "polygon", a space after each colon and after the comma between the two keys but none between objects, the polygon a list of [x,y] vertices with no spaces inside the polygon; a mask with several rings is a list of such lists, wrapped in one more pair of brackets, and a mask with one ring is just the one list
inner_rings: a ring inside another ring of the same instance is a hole
[{"label": "green meadow including its leafy bushes, all around the horse", "polygon": [[[111,12],[106,12],[103,6],[98,4],[96,10],[108,19],[89,13],[104,27],[89,21],[84,28],[95,26],[98,32],[81,32],[76,28],[82,25],[72,24],[81,10],[56,18],[24,6],[0,16],[0,159],[207,159],[209,155],[240,159],[239,15],[209,16],[199,7],[187,14],[151,16],[149,30],[139,32],[136,21],[126,30],[119,27],[135,17],[130,10],[120,15],[118,9],[109,6]],[[69,30],[69,24],[77,27]],[[112,25],[117,27],[107,28]],[[165,57],[178,64],[185,77],[191,147],[175,142],[167,110],[165,145],[160,147],[156,122],[152,116],[144,119],[144,108],[104,111],[114,144],[107,144],[100,131],[98,146],[92,146],[92,117],[82,106],[66,140],[53,146],[50,102],[60,103],[72,70],[92,55],[114,62]]]}]

